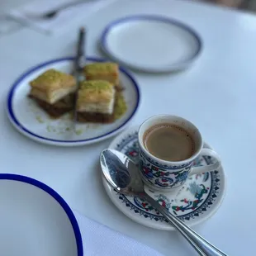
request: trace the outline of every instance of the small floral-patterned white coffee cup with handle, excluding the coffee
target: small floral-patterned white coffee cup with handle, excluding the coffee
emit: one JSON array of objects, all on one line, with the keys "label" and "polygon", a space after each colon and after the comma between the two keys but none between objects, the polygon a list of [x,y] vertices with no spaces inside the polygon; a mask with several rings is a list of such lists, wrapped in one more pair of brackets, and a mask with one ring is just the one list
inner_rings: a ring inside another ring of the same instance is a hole
[{"label": "small floral-patterned white coffee cup with handle, excluding the coffee", "polygon": [[[145,132],[156,125],[167,123],[174,126],[180,126],[183,130],[187,130],[188,134],[192,135],[195,142],[195,150],[192,156],[181,161],[166,161],[149,153],[144,143]],[[211,172],[220,167],[220,157],[218,154],[212,149],[203,149],[201,133],[196,126],[182,117],[169,115],[150,117],[140,126],[138,139],[140,148],[140,176],[151,189],[166,192],[182,186],[192,174]],[[216,162],[207,166],[194,166],[195,159],[202,155],[212,157]]]}]

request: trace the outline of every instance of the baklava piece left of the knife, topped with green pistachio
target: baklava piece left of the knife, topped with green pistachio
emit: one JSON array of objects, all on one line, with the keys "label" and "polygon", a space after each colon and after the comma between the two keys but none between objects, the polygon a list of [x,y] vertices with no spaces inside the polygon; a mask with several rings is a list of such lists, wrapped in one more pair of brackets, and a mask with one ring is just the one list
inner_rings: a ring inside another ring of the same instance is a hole
[{"label": "baklava piece left of the knife, topped with green pistachio", "polygon": [[29,96],[50,116],[58,118],[73,109],[77,86],[72,75],[49,69],[31,81],[30,85]]}]

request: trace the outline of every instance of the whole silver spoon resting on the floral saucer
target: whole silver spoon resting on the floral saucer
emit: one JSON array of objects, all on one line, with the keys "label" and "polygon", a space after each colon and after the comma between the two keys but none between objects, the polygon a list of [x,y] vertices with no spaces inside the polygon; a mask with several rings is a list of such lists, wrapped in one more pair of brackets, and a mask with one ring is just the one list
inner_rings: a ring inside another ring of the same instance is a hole
[{"label": "whole silver spoon resting on the floral saucer", "polygon": [[100,156],[100,163],[102,173],[111,187],[122,194],[140,197],[148,201],[187,239],[199,255],[227,256],[227,254],[221,252],[220,249],[217,249],[216,246],[185,225],[183,221],[178,220],[164,206],[159,205],[158,201],[149,197],[144,191],[144,184],[140,178],[138,167],[125,154],[114,149],[104,149]]}]

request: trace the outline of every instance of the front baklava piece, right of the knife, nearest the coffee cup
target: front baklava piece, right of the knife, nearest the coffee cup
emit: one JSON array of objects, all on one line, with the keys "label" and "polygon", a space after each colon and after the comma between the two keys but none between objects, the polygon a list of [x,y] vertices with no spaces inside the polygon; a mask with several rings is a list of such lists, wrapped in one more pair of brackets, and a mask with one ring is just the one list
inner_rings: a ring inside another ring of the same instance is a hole
[{"label": "front baklava piece, right of the knife, nearest the coffee cup", "polygon": [[78,90],[77,112],[80,122],[115,121],[115,88],[104,80],[83,81]]}]

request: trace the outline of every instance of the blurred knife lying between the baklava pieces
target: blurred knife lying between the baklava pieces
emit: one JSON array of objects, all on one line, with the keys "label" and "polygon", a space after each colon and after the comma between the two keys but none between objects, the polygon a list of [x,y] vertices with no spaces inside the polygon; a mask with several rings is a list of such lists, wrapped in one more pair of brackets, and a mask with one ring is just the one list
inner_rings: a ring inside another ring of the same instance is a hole
[{"label": "blurred knife lying between the baklava pieces", "polygon": [[78,88],[79,83],[83,81],[83,67],[85,65],[85,37],[86,31],[84,27],[81,27],[78,35],[78,46],[77,46],[77,55],[74,59],[74,67],[73,67],[73,76],[77,81],[77,88],[74,92],[74,108],[73,108],[73,131],[75,131],[76,122],[77,122],[77,97],[78,97]]}]

